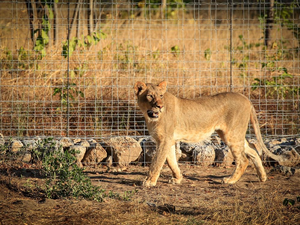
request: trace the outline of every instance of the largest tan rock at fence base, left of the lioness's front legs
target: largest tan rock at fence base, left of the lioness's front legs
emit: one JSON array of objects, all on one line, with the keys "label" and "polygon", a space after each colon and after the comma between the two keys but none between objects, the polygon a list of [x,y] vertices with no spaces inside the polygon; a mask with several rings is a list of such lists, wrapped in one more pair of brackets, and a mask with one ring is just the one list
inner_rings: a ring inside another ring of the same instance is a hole
[{"label": "largest tan rock at fence base, left of the lioness's front legs", "polygon": [[119,166],[126,166],[139,158],[142,148],[131,137],[113,137],[105,142],[107,152],[112,152],[113,160]]}]

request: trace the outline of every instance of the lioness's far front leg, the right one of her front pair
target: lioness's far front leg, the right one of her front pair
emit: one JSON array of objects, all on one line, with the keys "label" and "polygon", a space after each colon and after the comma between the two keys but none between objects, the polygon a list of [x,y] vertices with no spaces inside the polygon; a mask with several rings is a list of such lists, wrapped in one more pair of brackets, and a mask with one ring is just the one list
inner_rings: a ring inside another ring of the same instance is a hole
[{"label": "lioness's far front leg, the right one of her front pair", "polygon": [[175,152],[175,145],[173,145],[170,149],[169,154],[167,155],[167,164],[170,167],[173,177],[171,177],[168,181],[170,184],[180,184],[182,181],[182,174],[178,167],[178,163],[176,160],[176,152]]}]

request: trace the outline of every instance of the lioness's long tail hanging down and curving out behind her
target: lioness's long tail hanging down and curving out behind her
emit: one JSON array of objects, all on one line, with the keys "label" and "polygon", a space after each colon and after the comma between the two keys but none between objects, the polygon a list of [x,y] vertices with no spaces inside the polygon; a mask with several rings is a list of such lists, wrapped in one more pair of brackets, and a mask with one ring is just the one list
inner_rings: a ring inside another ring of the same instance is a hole
[{"label": "lioness's long tail hanging down and curving out behind her", "polygon": [[254,133],[255,133],[256,139],[257,139],[257,141],[259,143],[259,146],[265,152],[265,154],[268,155],[270,158],[276,160],[276,161],[286,161],[286,159],[283,158],[282,156],[280,156],[280,155],[274,155],[273,153],[271,153],[267,149],[267,147],[265,146],[265,144],[263,143],[262,135],[261,135],[260,129],[259,129],[259,123],[258,123],[257,116],[256,116],[256,112],[255,112],[255,109],[254,109],[252,103],[251,103],[250,121],[251,121],[251,123],[253,125]]}]

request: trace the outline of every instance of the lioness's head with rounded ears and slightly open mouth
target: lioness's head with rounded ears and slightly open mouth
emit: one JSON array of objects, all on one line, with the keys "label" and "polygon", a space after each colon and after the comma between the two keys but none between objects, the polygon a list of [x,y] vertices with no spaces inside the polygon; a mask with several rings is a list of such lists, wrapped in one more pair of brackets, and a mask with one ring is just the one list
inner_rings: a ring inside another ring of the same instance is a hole
[{"label": "lioness's head with rounded ears and slightly open mouth", "polygon": [[158,114],[164,112],[164,93],[167,82],[159,85],[143,83],[138,81],[134,84],[134,93],[137,96],[137,103],[143,113],[147,112],[150,118],[158,118]]}]

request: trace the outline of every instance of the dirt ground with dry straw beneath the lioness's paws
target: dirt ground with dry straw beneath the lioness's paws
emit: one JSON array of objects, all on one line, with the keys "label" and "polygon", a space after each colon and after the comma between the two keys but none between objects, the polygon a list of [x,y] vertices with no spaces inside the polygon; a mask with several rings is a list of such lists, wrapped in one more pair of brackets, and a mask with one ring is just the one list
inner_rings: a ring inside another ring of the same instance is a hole
[{"label": "dirt ground with dry straw beneath the lioness's paws", "polygon": [[[268,172],[258,181],[248,167],[236,184],[221,184],[234,166],[200,167],[181,164],[182,184],[168,184],[165,165],[156,187],[138,186],[148,167],[90,168],[93,184],[108,191],[133,191],[130,199],[94,202],[43,199],[30,182],[40,182],[34,170],[14,169],[0,179],[2,224],[300,224],[300,206],[284,206],[285,198],[300,196],[300,174]],[[30,178],[30,179],[29,179]],[[25,187],[26,188],[23,188]]]}]

